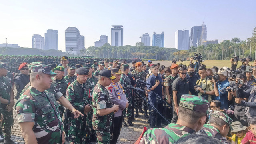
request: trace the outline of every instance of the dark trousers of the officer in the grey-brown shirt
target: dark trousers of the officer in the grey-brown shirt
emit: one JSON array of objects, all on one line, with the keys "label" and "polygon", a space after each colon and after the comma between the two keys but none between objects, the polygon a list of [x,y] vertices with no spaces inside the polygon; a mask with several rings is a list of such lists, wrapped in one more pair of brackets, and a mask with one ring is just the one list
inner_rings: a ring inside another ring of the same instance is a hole
[{"label": "dark trousers of the officer in the grey-brown shirt", "polygon": [[117,139],[120,135],[123,123],[123,115],[113,118],[112,125],[110,128],[110,134],[112,134],[110,144],[116,144]]}]

